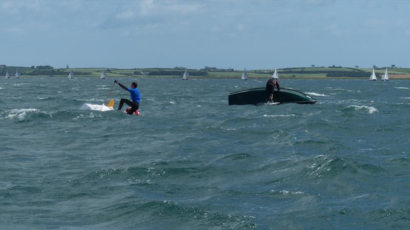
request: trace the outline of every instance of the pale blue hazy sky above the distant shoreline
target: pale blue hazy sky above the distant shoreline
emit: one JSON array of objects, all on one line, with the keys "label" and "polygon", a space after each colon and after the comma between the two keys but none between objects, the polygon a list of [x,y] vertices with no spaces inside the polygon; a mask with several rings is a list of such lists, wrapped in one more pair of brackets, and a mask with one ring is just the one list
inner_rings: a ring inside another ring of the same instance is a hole
[{"label": "pale blue hazy sky above the distant shoreline", "polygon": [[410,0],[1,0],[0,64],[409,68]]}]

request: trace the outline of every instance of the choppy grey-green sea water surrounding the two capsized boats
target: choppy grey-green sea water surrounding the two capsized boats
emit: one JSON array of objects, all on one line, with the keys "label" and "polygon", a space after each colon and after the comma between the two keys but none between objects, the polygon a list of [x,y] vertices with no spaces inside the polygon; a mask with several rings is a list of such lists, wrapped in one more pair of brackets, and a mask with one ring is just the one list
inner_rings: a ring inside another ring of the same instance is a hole
[{"label": "choppy grey-green sea water surrounding the two capsized boats", "polygon": [[409,229],[410,81],[0,79],[1,229]]}]

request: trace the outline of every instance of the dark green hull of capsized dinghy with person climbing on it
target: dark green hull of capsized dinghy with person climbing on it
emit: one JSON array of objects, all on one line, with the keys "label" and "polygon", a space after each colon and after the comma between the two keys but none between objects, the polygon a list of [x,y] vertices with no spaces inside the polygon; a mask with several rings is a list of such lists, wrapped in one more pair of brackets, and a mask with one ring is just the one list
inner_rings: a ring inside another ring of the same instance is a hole
[{"label": "dark green hull of capsized dinghy with person climbing on it", "polygon": [[[228,104],[262,104],[268,97],[265,88],[253,88],[231,93],[228,96]],[[298,104],[314,104],[317,100],[302,92],[280,88],[280,91],[273,93],[275,102],[279,103],[298,103]]]}]

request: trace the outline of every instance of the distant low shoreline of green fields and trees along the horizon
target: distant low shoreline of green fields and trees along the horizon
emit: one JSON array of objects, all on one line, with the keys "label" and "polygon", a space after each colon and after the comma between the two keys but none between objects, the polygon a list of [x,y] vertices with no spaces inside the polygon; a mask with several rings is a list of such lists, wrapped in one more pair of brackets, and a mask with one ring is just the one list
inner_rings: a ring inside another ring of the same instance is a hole
[{"label": "distant low shoreline of green fields and trees along the horizon", "polygon": [[[387,73],[390,79],[410,79],[410,68],[350,68],[350,67],[295,67],[277,69],[280,79],[368,79],[374,71],[377,79]],[[70,71],[74,77],[95,77],[99,78],[103,71],[107,77],[127,78],[181,78],[185,67],[175,68],[144,68],[144,69],[116,69],[116,68],[65,68],[55,69],[51,66],[32,67],[12,67],[0,65],[0,77],[8,72],[11,77],[19,72],[23,77],[68,77]],[[203,69],[187,69],[190,78],[197,79],[240,79],[244,71],[234,69],[217,69],[215,67],[205,67]],[[274,70],[246,70],[249,79],[268,79],[272,77]]]}]

